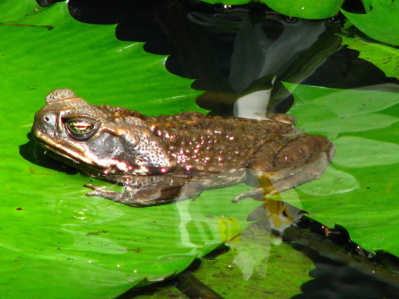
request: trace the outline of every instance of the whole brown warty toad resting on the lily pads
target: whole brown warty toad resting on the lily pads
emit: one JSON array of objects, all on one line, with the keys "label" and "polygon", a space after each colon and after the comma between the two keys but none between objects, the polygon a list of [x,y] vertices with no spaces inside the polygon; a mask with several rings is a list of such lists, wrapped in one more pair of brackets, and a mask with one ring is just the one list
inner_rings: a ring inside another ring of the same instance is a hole
[{"label": "whole brown warty toad resting on the lily pads", "polygon": [[83,173],[125,187],[116,192],[87,184],[94,190],[87,195],[130,206],[166,204],[254,177],[269,184],[234,200],[270,195],[319,178],[334,155],[328,139],[295,129],[289,115],[149,117],[89,105],[70,89],[53,90],[46,103],[32,126],[36,144]]}]

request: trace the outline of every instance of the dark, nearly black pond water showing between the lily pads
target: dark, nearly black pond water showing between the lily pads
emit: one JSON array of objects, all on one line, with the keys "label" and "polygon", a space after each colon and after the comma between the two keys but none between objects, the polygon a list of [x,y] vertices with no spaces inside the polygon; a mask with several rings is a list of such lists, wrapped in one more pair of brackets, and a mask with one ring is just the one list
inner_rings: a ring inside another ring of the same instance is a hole
[{"label": "dark, nearly black pond water showing between the lily pads", "polygon": [[[51,5],[55,1],[39,2]],[[269,74],[276,75],[271,98],[276,112],[286,112],[293,101],[280,81],[399,91],[398,80],[357,58],[357,51],[340,46],[341,38],[335,35],[342,28],[340,16],[303,20],[256,3],[225,7],[166,0],[70,0],[69,10],[82,22],[117,23],[118,39],[145,42],[147,52],[170,55],[167,69],[195,79],[192,87],[206,91],[197,103],[211,114],[231,114],[234,97]],[[292,299],[399,298],[396,285],[359,270],[357,263],[304,246],[300,240],[290,243],[315,265],[309,274],[314,280],[303,284],[302,294]],[[368,263],[367,258],[362,261]],[[169,285],[179,286],[179,279]],[[152,293],[158,287],[164,285],[139,293]],[[133,298],[137,292],[120,298]],[[190,298],[196,296],[184,292]]]}]

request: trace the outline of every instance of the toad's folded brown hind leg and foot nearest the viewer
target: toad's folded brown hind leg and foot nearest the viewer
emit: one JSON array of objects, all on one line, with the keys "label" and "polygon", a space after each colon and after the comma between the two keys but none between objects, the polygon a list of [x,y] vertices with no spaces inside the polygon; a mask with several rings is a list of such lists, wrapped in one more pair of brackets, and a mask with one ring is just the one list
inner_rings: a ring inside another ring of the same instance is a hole
[{"label": "toad's folded brown hind leg and foot nearest the viewer", "polygon": [[[335,150],[331,141],[318,135],[300,136],[277,147],[275,143],[274,155],[266,152],[267,148],[257,152],[250,169],[260,187],[236,196],[233,202],[259,194],[273,195],[320,178],[333,159]],[[271,158],[262,159],[262,155]]]}]

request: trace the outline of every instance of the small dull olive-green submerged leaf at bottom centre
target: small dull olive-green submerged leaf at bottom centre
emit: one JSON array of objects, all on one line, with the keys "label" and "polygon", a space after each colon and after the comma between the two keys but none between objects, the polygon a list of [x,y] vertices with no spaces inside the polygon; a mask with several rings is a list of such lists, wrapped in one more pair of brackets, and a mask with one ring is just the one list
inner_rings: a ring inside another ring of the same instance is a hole
[{"label": "small dull olive-green submerged leaf at bottom centre", "polygon": [[310,280],[312,261],[265,228],[252,225],[227,245],[194,273],[223,298],[291,298]]}]

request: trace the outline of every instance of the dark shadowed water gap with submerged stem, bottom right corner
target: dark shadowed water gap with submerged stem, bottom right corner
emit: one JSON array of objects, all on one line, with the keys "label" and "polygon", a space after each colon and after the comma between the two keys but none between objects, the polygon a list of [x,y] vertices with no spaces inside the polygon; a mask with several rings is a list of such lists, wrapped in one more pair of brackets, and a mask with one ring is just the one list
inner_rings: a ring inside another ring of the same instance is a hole
[{"label": "dark shadowed water gap with submerged stem, bottom right corner", "polygon": [[315,266],[309,273],[313,280],[304,283],[302,294],[291,299],[399,298],[399,259],[362,249],[344,227],[330,229],[302,216],[283,236]]}]

